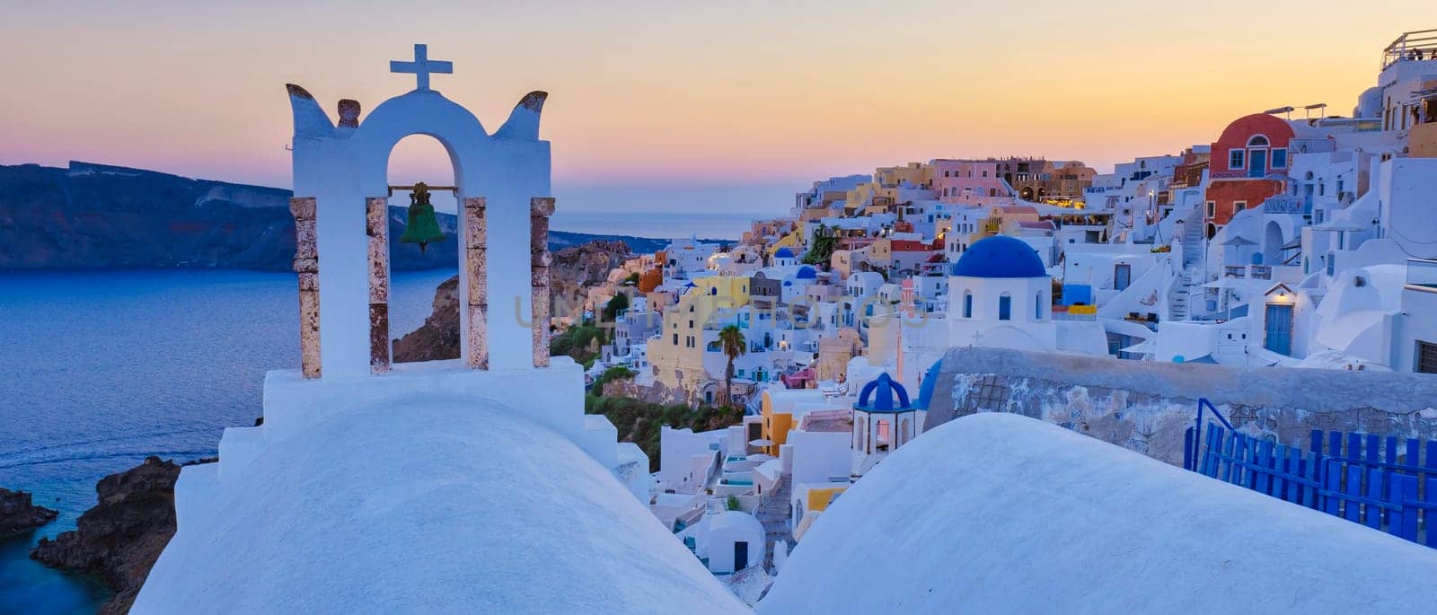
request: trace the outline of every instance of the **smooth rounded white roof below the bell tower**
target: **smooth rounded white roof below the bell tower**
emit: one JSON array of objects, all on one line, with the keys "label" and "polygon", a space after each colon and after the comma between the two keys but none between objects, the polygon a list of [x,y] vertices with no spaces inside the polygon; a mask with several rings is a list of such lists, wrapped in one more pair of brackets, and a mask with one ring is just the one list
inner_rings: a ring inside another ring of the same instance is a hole
[{"label": "smooth rounded white roof below the bell tower", "polygon": [[609,470],[516,411],[375,404],[269,445],[185,520],[134,612],[744,609]]}]

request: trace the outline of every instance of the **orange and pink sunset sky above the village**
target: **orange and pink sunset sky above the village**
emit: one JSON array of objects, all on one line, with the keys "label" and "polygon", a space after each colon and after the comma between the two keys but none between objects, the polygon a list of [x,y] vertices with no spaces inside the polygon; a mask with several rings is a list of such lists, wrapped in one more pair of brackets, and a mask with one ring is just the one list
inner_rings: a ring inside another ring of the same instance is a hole
[{"label": "orange and pink sunset sky above the village", "polygon": [[[550,93],[542,137],[570,205],[693,207],[681,188],[779,211],[877,165],[1017,154],[1105,171],[1267,108],[1348,115],[1391,39],[1437,27],[1431,0],[201,4],[0,0],[0,164],[287,187],[283,85],[369,111],[414,86],[388,60],[428,43],[456,69],[434,89],[490,131],[525,92]],[[391,171],[448,174],[425,138]]]}]

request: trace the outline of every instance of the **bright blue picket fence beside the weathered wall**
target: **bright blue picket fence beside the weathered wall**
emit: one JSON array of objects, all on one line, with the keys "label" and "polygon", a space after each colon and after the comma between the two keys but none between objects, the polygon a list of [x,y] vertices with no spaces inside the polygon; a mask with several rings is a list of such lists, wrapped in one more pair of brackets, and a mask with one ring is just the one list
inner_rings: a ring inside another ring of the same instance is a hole
[{"label": "bright blue picket fence beside the weathered wall", "polygon": [[1305,451],[1217,418],[1187,430],[1188,470],[1437,547],[1437,441],[1312,431]]}]

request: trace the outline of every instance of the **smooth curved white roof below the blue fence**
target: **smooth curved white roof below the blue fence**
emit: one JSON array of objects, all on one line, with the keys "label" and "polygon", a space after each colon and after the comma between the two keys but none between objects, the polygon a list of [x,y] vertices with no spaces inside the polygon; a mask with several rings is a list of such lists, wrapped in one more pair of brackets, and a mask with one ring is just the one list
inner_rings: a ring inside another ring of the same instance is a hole
[{"label": "smooth curved white roof below the blue fence", "polygon": [[835,500],[759,612],[1420,612],[1434,569],[1437,550],[1358,523],[974,414]]}]

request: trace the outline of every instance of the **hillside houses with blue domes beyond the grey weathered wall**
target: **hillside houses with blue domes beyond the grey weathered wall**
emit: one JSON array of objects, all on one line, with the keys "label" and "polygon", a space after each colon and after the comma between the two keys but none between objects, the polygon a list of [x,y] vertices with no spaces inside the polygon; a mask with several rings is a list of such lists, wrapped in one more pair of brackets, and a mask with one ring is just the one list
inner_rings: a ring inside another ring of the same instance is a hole
[{"label": "hillside houses with blue domes beyond the grey weathered wall", "polygon": [[1434,50],[1398,37],[1351,114],[1266,109],[1108,174],[971,158],[833,177],[737,241],[629,259],[585,299],[612,328],[589,378],[746,408],[664,427],[652,513],[716,573],[773,570],[923,433],[950,348],[1437,374]]}]

